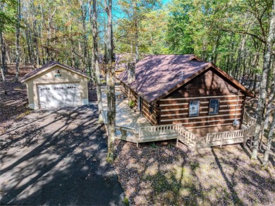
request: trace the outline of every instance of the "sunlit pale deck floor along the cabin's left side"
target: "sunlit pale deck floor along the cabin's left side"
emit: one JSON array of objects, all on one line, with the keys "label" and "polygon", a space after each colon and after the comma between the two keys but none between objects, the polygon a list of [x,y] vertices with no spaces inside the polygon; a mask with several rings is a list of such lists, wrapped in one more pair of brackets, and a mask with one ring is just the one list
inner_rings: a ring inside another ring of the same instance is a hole
[{"label": "sunlit pale deck floor along the cabin's left side", "polygon": [[[106,93],[102,90],[102,104],[103,109],[107,114],[107,98]],[[138,109],[130,109],[128,106],[128,99],[123,99],[116,103],[116,126],[126,126],[138,129],[142,126],[152,126],[147,119],[145,119]]]}]

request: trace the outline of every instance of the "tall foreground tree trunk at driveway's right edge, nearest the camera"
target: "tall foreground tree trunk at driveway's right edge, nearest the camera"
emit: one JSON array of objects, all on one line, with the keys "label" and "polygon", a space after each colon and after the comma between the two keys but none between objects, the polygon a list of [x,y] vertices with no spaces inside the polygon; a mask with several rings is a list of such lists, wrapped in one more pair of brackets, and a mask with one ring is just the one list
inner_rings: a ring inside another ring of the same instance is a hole
[{"label": "tall foreground tree trunk at driveway's right edge, nearest the camera", "polygon": [[112,31],[112,0],[105,0],[105,11],[107,13],[107,40],[106,40],[106,62],[107,62],[107,132],[108,132],[108,154],[107,161],[114,162],[114,137],[116,126],[116,94],[115,94],[115,71],[113,64],[113,31]]}]

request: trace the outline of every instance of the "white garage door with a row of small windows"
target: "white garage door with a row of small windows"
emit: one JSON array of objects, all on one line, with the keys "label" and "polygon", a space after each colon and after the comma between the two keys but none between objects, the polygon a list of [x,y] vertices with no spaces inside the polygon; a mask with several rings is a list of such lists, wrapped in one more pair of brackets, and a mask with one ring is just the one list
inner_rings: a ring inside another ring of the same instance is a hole
[{"label": "white garage door with a row of small windows", "polygon": [[42,109],[81,105],[79,83],[39,85],[38,92]]}]

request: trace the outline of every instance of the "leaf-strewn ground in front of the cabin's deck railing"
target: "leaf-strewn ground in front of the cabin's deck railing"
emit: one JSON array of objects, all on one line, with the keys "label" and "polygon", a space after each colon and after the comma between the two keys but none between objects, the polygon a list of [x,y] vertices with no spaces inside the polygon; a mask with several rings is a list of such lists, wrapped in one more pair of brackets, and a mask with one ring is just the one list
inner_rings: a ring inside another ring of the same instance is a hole
[{"label": "leaf-strewn ground in front of the cabin's deck railing", "polygon": [[138,148],[117,140],[116,147],[114,166],[130,204],[274,205],[274,146],[268,169],[243,145],[192,152],[173,141]]}]

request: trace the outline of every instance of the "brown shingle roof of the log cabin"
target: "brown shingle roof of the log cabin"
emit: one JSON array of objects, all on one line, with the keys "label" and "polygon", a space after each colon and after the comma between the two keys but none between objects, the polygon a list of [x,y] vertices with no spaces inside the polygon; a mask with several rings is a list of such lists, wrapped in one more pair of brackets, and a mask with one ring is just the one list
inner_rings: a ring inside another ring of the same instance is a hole
[{"label": "brown shingle roof of the log cabin", "polygon": [[[209,67],[213,67],[241,90],[252,95],[243,85],[233,80],[227,73],[214,66],[213,63],[192,61],[198,59],[193,54],[187,55],[151,55],[139,61],[135,66],[135,81],[128,84],[128,72],[118,75],[118,79],[128,85],[148,102],[156,102],[168,95],[177,87],[195,78]],[[200,59],[198,59],[200,60]]]}]

